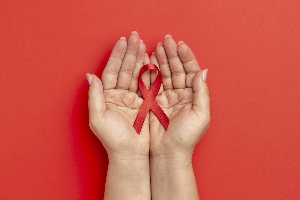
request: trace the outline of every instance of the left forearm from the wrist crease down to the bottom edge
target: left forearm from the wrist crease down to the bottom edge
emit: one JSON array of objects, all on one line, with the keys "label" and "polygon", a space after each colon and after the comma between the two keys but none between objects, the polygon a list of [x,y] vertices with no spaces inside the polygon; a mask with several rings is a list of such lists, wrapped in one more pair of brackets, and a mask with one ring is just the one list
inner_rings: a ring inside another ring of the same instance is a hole
[{"label": "left forearm from the wrist crease down to the bottom edge", "polygon": [[151,199],[149,156],[109,157],[104,199]]}]

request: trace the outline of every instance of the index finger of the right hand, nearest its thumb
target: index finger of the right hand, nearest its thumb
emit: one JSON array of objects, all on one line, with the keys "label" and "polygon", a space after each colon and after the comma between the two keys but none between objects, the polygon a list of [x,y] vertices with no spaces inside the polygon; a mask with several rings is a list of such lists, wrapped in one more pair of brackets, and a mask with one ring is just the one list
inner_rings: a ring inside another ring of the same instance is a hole
[{"label": "index finger of the right hand, nearest its thumb", "polygon": [[184,43],[184,41],[178,42],[177,52],[186,72],[185,84],[187,87],[191,88],[195,74],[200,71],[199,64],[192,50]]}]

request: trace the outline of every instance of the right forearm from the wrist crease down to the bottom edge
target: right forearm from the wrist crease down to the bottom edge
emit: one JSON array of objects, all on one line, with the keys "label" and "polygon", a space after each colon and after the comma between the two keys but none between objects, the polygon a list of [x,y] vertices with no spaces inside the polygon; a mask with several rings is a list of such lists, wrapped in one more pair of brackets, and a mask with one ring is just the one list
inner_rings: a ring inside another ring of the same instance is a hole
[{"label": "right forearm from the wrist crease down to the bottom edge", "polygon": [[152,199],[199,199],[191,155],[150,157]]}]

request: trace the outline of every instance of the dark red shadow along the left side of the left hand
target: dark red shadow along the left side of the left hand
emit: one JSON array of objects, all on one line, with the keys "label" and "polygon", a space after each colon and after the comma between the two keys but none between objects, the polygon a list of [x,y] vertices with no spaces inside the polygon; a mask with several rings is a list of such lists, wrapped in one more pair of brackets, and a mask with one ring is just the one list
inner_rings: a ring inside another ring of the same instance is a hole
[{"label": "dark red shadow along the left side of the left hand", "polygon": [[[95,74],[101,77],[110,52],[102,55]],[[108,157],[100,140],[89,129],[88,124],[88,84],[79,85],[74,97],[70,121],[73,135],[74,160],[77,161],[80,199],[102,199],[106,181]],[[85,120],[83,120],[85,119]],[[100,167],[99,167],[100,166]]]}]

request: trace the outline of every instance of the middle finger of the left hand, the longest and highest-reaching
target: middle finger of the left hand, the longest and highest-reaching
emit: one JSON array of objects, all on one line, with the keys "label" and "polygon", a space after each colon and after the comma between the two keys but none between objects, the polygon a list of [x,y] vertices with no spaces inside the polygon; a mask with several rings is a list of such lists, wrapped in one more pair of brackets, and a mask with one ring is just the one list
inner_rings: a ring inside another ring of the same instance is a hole
[{"label": "middle finger of the left hand, the longest and highest-reaching", "polygon": [[127,90],[130,86],[131,76],[137,58],[137,51],[139,49],[139,43],[140,37],[138,36],[137,31],[133,31],[128,38],[126,53],[118,73],[116,85],[117,89]]}]

